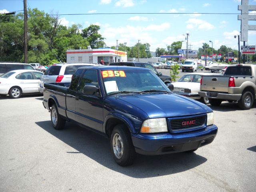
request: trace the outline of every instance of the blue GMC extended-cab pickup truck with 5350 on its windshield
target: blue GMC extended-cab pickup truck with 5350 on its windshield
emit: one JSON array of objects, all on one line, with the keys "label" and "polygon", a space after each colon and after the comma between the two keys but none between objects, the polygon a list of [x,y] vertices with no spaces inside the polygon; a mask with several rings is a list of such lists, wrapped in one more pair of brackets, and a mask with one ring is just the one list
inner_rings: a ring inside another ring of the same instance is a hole
[{"label": "blue GMC extended-cab pickup truck with 5350 on its windshield", "polygon": [[70,85],[46,83],[43,105],[57,130],[74,121],[110,138],[115,161],[127,166],[136,153],[194,152],[214,140],[212,109],[172,90],[147,68],[90,66]]}]

